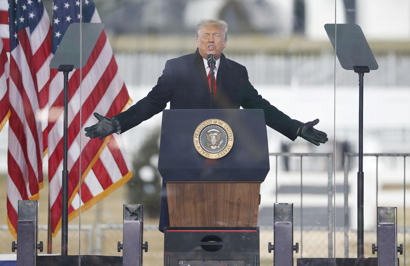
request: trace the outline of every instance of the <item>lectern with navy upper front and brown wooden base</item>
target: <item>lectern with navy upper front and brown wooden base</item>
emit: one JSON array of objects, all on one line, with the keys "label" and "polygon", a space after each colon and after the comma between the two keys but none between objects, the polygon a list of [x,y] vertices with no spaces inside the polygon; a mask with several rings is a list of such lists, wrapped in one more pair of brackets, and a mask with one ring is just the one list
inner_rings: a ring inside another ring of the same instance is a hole
[{"label": "lectern with navy upper front and brown wooden base", "polygon": [[[204,157],[194,145],[205,120],[232,130],[232,148],[221,158]],[[260,184],[269,172],[263,110],[164,110],[158,170],[171,227],[256,227]]]}]

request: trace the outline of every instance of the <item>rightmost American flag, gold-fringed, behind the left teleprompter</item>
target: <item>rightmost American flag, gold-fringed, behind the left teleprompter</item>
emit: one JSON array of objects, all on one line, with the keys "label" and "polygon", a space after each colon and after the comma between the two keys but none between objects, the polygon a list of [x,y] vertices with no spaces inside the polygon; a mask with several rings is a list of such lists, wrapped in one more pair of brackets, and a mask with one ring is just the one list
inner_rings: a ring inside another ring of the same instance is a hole
[{"label": "rightmost American flag, gold-fringed, behind the left teleprompter", "polygon": [[[82,22],[100,23],[92,0],[82,0]],[[54,53],[68,25],[80,22],[80,0],[54,0],[52,18],[52,49]],[[113,134],[103,140],[89,139],[84,127],[97,122],[93,112],[107,117],[125,110],[131,104],[127,88],[118,71],[105,31],[98,39],[87,64],[68,76],[68,220],[89,209],[125,182],[132,172],[122,137]],[[82,103],[80,103],[80,94]],[[61,227],[62,159],[63,159],[63,76],[51,71],[50,111],[48,114],[48,176],[53,235]],[[82,120],[80,128],[80,106]],[[80,146],[81,138],[81,146]],[[81,198],[79,194],[81,157]]]}]

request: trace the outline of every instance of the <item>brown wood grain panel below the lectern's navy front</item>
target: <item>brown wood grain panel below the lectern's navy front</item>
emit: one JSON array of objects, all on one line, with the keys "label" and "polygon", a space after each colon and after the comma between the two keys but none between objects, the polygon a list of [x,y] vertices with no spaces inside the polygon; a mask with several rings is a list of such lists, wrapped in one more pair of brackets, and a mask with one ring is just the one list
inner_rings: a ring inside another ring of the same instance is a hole
[{"label": "brown wood grain panel below the lectern's navy front", "polygon": [[259,182],[167,182],[173,227],[255,227]]}]

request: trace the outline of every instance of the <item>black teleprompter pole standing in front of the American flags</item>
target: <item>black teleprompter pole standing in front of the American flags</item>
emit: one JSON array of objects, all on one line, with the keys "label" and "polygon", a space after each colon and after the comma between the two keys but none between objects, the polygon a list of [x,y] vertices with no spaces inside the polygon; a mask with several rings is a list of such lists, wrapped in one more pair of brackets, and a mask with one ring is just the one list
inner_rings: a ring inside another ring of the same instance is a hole
[{"label": "black teleprompter pole standing in front of the American flags", "polygon": [[58,71],[64,74],[64,135],[63,135],[63,172],[61,208],[61,255],[68,254],[68,169],[67,169],[67,129],[68,129],[68,73],[74,65],[60,65]]}]

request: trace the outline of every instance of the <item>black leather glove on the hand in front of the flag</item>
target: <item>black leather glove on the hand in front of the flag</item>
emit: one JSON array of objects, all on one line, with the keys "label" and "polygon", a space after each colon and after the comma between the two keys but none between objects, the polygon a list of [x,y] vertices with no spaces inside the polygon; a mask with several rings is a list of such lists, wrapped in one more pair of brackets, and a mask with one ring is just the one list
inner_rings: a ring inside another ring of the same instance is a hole
[{"label": "black leather glove on the hand in front of the flag", "polygon": [[108,118],[102,116],[98,113],[94,113],[94,116],[98,119],[98,123],[92,125],[91,127],[86,127],[85,135],[90,137],[90,139],[98,137],[98,139],[104,139],[119,130],[120,122],[116,118]]}]

